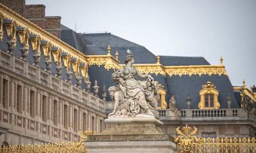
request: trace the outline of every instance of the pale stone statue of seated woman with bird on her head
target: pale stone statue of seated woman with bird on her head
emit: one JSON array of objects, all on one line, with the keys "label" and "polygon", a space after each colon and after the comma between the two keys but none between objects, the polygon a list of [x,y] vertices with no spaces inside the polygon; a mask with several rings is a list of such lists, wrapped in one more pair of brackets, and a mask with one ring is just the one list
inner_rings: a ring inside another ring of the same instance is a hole
[{"label": "pale stone statue of seated woman with bird on her head", "polygon": [[[113,116],[131,116],[146,114],[159,119],[157,112],[157,99],[160,98],[158,90],[160,85],[149,74],[140,74],[133,66],[135,59],[130,50],[125,58],[125,66],[112,74],[114,82],[118,82],[119,89],[112,86],[108,89],[111,98],[115,101]],[[146,79],[137,80],[137,77]]]}]

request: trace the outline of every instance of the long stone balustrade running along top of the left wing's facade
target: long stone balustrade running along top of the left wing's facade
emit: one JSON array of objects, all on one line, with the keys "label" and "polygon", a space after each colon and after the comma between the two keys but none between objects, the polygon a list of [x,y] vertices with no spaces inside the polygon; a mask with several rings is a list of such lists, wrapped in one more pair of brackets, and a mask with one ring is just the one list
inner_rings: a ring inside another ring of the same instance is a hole
[{"label": "long stone balustrade running along top of the left wing's facade", "polygon": [[64,94],[65,96],[105,113],[106,102],[99,99],[98,96],[83,91],[83,89],[67,83],[26,61],[18,59],[12,54],[0,51],[0,67],[6,68],[9,71],[26,77],[29,80],[58,91],[60,94]]}]

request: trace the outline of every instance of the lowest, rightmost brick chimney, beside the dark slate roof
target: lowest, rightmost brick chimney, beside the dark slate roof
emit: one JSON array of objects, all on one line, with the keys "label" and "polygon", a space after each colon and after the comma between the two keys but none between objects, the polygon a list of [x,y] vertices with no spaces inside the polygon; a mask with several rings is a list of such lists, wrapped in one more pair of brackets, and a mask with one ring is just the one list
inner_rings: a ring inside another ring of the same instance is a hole
[{"label": "lowest, rightmost brick chimney, beside the dark slate roof", "polygon": [[55,37],[61,39],[61,17],[45,17],[46,27],[45,30]]}]

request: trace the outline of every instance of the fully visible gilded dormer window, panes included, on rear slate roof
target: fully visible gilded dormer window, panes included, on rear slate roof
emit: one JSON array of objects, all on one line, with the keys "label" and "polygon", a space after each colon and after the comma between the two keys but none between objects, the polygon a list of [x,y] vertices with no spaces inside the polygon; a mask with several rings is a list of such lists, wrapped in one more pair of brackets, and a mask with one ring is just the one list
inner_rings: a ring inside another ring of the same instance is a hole
[{"label": "fully visible gilded dormer window, panes included, on rear slate roof", "polygon": [[200,102],[198,104],[199,109],[218,109],[220,103],[218,102],[218,91],[211,82],[207,82],[207,85],[202,85],[202,90],[199,91]]}]

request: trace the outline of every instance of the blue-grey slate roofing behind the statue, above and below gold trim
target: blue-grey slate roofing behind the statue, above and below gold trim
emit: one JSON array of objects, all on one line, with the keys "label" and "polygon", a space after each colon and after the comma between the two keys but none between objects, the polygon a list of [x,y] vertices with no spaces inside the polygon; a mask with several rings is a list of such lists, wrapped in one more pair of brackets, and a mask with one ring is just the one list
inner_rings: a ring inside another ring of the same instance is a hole
[{"label": "blue-grey slate roofing behind the statue, above and below gold trim", "polygon": [[[123,38],[117,37],[111,33],[99,33],[99,34],[77,34],[73,30],[62,26],[61,39],[72,45],[74,48],[83,52],[87,55],[93,54],[107,54],[108,45],[111,46],[111,55],[115,57],[116,51],[119,54],[119,61],[124,63],[125,56],[127,55],[127,49],[131,50],[135,57],[135,63],[156,63],[157,58],[154,54],[148,51],[147,48],[138,45],[134,42],[130,42]],[[146,57],[146,58],[145,58]],[[175,56],[160,56],[160,63],[165,66],[178,66],[178,65],[210,65],[204,57],[175,57]],[[99,88],[99,97],[101,97],[102,86],[106,85],[108,89],[112,85],[116,85],[116,82],[113,82],[111,79],[111,74],[113,70],[107,71],[104,68],[104,65],[98,67],[97,65],[92,65],[89,68],[89,76],[92,85],[94,81],[98,81]],[[99,75],[100,74],[100,75]],[[169,99],[172,94],[175,95],[177,99],[177,105],[182,109],[186,109],[186,98],[190,95],[192,99],[191,108],[197,109],[198,103],[200,102],[199,91],[202,89],[202,85],[206,85],[208,81],[212,82],[216,86],[216,89],[219,91],[218,101],[221,104],[221,108],[227,108],[227,95],[231,94],[232,108],[240,108],[241,96],[239,96],[236,91],[233,91],[233,86],[229,78],[226,75],[219,76],[212,74],[202,75],[188,75],[172,76],[169,77],[167,74],[164,77],[161,74],[157,76],[155,74],[151,75],[164,86],[166,93],[166,102],[169,104]],[[138,78],[139,80],[142,80]],[[107,94],[107,101],[111,101],[109,94]],[[169,108],[169,107],[168,107]]]}]

